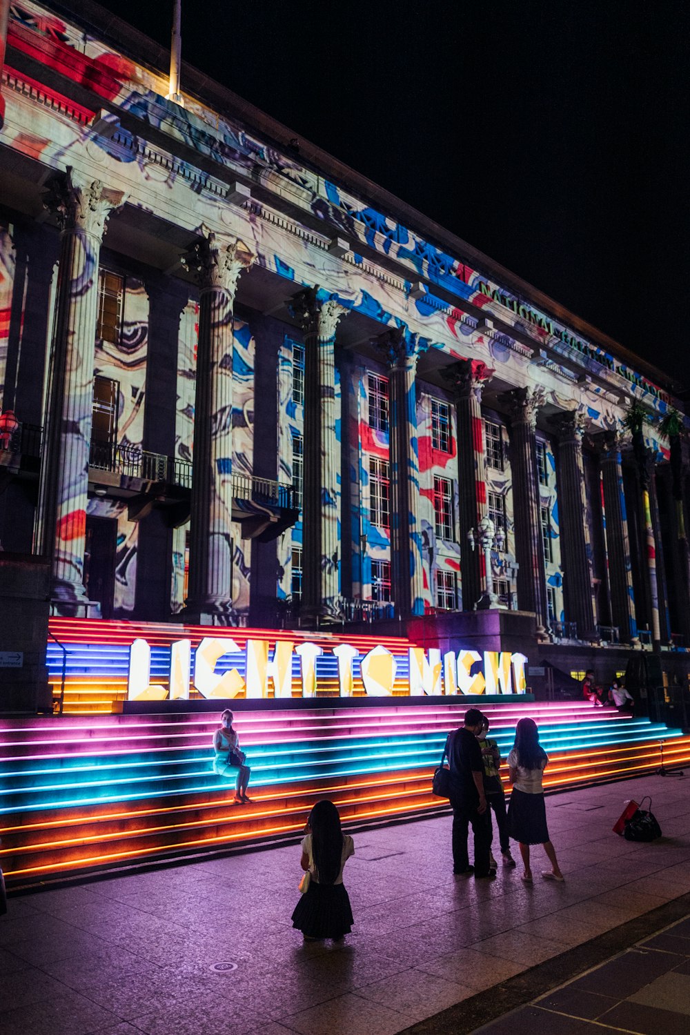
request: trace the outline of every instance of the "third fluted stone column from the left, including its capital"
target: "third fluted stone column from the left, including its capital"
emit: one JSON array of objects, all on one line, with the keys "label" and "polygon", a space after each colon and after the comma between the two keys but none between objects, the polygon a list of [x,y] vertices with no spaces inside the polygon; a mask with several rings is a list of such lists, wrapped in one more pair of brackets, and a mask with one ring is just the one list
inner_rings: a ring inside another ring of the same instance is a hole
[{"label": "third fluted stone column from the left, including its capital", "polygon": [[304,487],[302,494],[301,614],[313,621],[339,617],[340,445],[336,434],[335,331],[348,312],[316,288],[290,307],[304,332]]}]

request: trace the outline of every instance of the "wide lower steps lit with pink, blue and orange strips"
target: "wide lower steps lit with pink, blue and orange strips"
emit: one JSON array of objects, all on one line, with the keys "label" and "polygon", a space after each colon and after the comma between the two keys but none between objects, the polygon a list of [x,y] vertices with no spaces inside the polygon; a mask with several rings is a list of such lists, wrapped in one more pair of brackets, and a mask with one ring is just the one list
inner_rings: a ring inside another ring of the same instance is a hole
[{"label": "wide lower steps lit with pink, blue and orange strips", "polygon": [[[215,715],[0,720],[0,865],[23,885],[294,837],[325,796],[351,826],[443,810],[431,773],[467,703],[442,702],[238,713],[251,766],[243,806],[211,768]],[[661,740],[667,766],[690,765],[690,736],[587,702],[483,710],[504,758],[517,719],[537,721],[547,791],[653,771]]]}]

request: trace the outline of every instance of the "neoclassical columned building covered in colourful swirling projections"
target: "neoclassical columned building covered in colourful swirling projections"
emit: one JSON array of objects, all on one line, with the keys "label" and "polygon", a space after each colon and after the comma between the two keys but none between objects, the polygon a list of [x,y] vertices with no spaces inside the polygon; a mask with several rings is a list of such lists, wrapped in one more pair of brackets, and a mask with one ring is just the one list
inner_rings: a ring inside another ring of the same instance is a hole
[{"label": "neoclassical columned building covered in colourful swirling projections", "polygon": [[8,14],[0,544],[53,614],[687,681],[670,377],[97,4]]}]

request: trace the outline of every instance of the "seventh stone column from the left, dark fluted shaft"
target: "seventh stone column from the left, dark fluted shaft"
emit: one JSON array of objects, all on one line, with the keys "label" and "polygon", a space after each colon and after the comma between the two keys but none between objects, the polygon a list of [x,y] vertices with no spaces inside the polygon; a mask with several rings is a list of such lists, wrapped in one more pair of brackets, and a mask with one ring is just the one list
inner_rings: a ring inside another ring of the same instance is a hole
[{"label": "seventh stone column from the left, dark fluted shaft", "polygon": [[577,623],[579,640],[590,643],[596,629],[592,541],[588,524],[582,437],[584,414],[563,414],[554,421],[559,435],[559,519],[565,568],[566,615]]}]

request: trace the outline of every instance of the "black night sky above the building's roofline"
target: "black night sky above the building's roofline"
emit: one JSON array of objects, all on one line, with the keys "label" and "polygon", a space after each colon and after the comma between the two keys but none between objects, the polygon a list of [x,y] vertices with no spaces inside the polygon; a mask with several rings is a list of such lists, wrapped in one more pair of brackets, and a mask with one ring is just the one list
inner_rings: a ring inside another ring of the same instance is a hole
[{"label": "black night sky above the building's roofline", "polygon": [[[169,43],[172,0],[104,6]],[[689,4],[182,0],[182,20],[183,60],[690,387]]]}]

